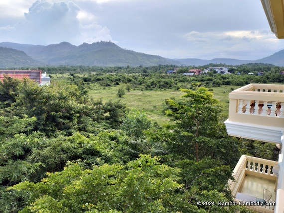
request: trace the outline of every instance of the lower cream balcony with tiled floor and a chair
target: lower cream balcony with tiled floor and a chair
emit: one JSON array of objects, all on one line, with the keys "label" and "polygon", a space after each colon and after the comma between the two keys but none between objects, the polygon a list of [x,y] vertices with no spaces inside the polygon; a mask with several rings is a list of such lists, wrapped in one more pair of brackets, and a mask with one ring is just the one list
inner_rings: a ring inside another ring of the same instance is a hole
[{"label": "lower cream balcony with tiled floor and a chair", "polygon": [[[274,174],[276,161],[242,155],[237,163],[233,176],[235,181],[229,181],[230,190],[237,202],[255,202],[263,198],[263,188],[272,193],[269,202],[276,201],[277,174]],[[258,213],[273,213],[275,205],[247,206]]]}]

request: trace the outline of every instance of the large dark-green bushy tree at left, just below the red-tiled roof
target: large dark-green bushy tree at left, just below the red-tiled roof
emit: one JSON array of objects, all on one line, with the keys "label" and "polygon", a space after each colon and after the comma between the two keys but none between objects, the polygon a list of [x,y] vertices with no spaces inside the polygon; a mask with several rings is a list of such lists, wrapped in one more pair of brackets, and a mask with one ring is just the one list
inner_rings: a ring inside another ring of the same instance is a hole
[{"label": "large dark-green bushy tree at left, just below the red-tiled roof", "polygon": [[4,113],[9,113],[8,116],[35,117],[33,131],[52,135],[59,130],[71,135],[95,124],[93,115],[97,112],[96,106],[86,103],[87,92],[82,85],[56,83],[40,87],[25,79],[19,83],[15,93],[14,102],[10,108],[4,108]]}]

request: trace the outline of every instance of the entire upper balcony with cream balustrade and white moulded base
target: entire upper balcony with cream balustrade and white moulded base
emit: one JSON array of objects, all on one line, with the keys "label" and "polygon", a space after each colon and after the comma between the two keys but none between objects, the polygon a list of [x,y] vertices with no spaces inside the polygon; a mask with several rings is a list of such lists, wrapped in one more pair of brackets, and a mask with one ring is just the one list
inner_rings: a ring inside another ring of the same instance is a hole
[{"label": "entire upper balcony with cream balustrade and white moulded base", "polygon": [[249,84],[229,94],[231,136],[281,143],[284,130],[284,85]]}]

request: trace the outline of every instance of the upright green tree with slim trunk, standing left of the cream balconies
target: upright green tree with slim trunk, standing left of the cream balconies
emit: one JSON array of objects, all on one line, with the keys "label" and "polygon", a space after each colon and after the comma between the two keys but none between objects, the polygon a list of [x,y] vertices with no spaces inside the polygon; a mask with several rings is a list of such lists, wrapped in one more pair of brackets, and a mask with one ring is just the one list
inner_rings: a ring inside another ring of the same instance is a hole
[{"label": "upright green tree with slim trunk, standing left of the cream balconies", "polygon": [[210,137],[218,132],[220,107],[217,105],[218,100],[213,98],[213,93],[204,87],[196,88],[195,91],[180,90],[186,94],[181,100],[166,100],[169,108],[166,114],[174,117],[179,134],[194,143],[195,159],[198,161],[198,137]]}]

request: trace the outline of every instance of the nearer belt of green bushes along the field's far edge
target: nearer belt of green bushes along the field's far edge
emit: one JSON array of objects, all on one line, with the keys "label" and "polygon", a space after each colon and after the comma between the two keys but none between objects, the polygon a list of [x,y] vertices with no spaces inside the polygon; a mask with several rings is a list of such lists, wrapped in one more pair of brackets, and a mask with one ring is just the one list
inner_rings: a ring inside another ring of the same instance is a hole
[{"label": "nearer belt of green bushes along the field's far edge", "polygon": [[81,79],[85,83],[98,83],[103,87],[112,87],[120,84],[128,84],[132,89],[153,90],[153,89],[192,89],[192,85],[198,82],[201,86],[220,87],[221,85],[244,86],[250,83],[284,83],[284,75],[271,71],[262,76],[247,74],[201,74],[195,76],[185,76],[182,74],[85,74],[79,76],[71,73],[69,80]]}]

